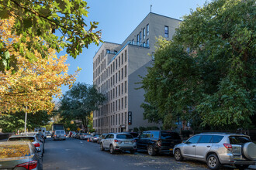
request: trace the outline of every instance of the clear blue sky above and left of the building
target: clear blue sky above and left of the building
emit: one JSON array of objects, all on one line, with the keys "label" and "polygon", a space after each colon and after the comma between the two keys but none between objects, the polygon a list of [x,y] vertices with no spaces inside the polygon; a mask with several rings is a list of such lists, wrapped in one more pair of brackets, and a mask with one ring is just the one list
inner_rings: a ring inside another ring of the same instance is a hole
[{"label": "clear blue sky above and left of the building", "polygon": [[[87,0],[88,18],[86,22],[99,22],[98,29],[102,30],[102,40],[107,42],[122,43],[133,29],[150,12],[166,15],[174,19],[182,19],[189,15],[190,10],[202,7],[206,0]],[[74,73],[78,66],[81,72],[78,74],[77,82],[92,84],[92,59],[99,46],[90,45],[76,59],[68,57],[70,64],[68,73]],[[64,51],[59,55],[63,55]],[[68,87],[62,87],[63,93]]]}]

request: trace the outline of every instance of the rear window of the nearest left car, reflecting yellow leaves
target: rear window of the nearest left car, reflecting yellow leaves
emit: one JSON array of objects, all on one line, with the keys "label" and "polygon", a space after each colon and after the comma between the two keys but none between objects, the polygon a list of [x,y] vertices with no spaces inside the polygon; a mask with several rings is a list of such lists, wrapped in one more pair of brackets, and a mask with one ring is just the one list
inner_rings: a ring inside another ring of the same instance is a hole
[{"label": "rear window of the nearest left car, reflecting yellow leaves", "polygon": [[0,145],[0,159],[30,156],[29,145]]}]

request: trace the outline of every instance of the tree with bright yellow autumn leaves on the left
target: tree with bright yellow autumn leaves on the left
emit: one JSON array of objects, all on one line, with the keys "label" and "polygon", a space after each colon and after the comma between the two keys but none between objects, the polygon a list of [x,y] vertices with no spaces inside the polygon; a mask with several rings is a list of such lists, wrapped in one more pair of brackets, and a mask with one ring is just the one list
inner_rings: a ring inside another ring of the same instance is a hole
[{"label": "tree with bright yellow autumn leaves on the left", "polygon": [[50,111],[53,97],[61,96],[61,85],[71,87],[78,70],[68,75],[67,55],[57,57],[54,49],[48,49],[50,55],[43,59],[37,51],[21,48],[22,53],[34,56],[33,61],[21,57],[14,49],[20,37],[12,33],[13,24],[14,19],[0,20],[0,41],[9,44],[8,56],[16,59],[18,67],[0,72],[0,113]]}]

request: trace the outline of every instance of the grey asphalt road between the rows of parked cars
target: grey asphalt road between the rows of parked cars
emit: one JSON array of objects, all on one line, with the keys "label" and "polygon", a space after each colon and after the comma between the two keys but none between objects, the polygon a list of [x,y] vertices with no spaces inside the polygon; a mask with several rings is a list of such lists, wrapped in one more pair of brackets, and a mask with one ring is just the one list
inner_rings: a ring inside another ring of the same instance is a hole
[{"label": "grey asphalt road between the rows of parked cars", "polygon": [[[134,155],[127,152],[111,155],[109,151],[100,151],[99,144],[67,138],[65,141],[53,141],[47,138],[43,156],[43,169],[61,170],[171,170],[171,169],[208,169],[204,162],[176,162],[171,155],[149,156],[144,151]],[[234,169],[224,167],[224,169]]]}]

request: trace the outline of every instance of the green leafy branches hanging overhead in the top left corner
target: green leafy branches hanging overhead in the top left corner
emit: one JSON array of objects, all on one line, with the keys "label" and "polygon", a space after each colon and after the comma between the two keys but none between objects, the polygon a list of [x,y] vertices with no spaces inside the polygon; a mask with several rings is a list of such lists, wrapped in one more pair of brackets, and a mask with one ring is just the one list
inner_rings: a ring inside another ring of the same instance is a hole
[{"label": "green leafy branches hanging overhead in the top left corner", "polygon": [[[101,41],[101,32],[95,31],[98,22],[90,22],[89,26],[85,23],[88,8],[84,0],[0,0],[0,19],[16,20],[12,32],[20,38],[12,46],[19,55],[33,61],[35,51],[47,57],[49,48],[57,52],[66,48],[76,58],[82,48]],[[0,39],[0,71],[11,66],[17,69],[17,56],[10,56],[7,46],[8,42]]]}]

